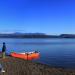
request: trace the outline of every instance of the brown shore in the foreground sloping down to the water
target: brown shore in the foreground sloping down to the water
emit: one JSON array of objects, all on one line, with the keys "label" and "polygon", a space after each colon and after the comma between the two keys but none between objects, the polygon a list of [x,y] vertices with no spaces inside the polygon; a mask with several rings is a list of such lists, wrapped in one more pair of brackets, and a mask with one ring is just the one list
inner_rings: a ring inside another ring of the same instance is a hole
[{"label": "brown shore in the foreground sloping down to the water", "polygon": [[0,75],[75,75],[75,70],[52,68],[44,64],[22,60],[8,56],[0,58],[5,73]]}]

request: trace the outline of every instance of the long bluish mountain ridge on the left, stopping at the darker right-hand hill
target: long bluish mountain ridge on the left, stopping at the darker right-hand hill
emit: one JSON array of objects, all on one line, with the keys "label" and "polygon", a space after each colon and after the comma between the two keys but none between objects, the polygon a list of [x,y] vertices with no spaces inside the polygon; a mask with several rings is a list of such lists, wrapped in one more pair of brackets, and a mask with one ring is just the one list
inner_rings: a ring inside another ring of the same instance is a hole
[{"label": "long bluish mountain ridge on the left, stopping at the darker right-hand hill", "polygon": [[0,34],[0,38],[57,38],[55,35],[46,35],[44,33],[12,33],[12,34]]}]

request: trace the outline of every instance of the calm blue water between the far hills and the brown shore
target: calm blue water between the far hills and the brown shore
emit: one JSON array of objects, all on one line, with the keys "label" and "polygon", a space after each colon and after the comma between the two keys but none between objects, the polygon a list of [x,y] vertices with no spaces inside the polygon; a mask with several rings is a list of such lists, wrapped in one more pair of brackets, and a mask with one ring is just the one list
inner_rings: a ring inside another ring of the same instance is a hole
[{"label": "calm blue water between the far hills and the brown shore", "polygon": [[75,68],[75,39],[5,39],[7,53],[38,50],[41,56],[38,62],[55,67]]}]

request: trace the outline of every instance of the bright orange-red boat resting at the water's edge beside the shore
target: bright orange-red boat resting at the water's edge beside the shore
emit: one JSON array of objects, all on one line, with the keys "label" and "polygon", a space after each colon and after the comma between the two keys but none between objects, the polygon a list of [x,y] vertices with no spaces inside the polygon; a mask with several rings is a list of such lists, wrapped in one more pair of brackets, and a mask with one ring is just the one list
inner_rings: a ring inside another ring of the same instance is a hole
[{"label": "bright orange-red boat resting at the water's edge beside the shore", "polygon": [[25,60],[32,60],[32,59],[37,59],[40,56],[39,52],[26,52],[26,53],[11,53],[10,54],[12,57],[16,57],[16,58],[22,58]]}]

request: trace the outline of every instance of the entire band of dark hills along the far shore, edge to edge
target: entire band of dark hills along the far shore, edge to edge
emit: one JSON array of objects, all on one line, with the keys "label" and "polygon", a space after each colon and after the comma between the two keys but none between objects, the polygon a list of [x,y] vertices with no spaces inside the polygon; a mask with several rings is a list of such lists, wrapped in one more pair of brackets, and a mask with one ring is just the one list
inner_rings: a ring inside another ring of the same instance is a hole
[{"label": "entire band of dark hills along the far shore, edge to edge", "polygon": [[44,33],[1,33],[0,38],[75,38],[75,34],[47,35]]}]

